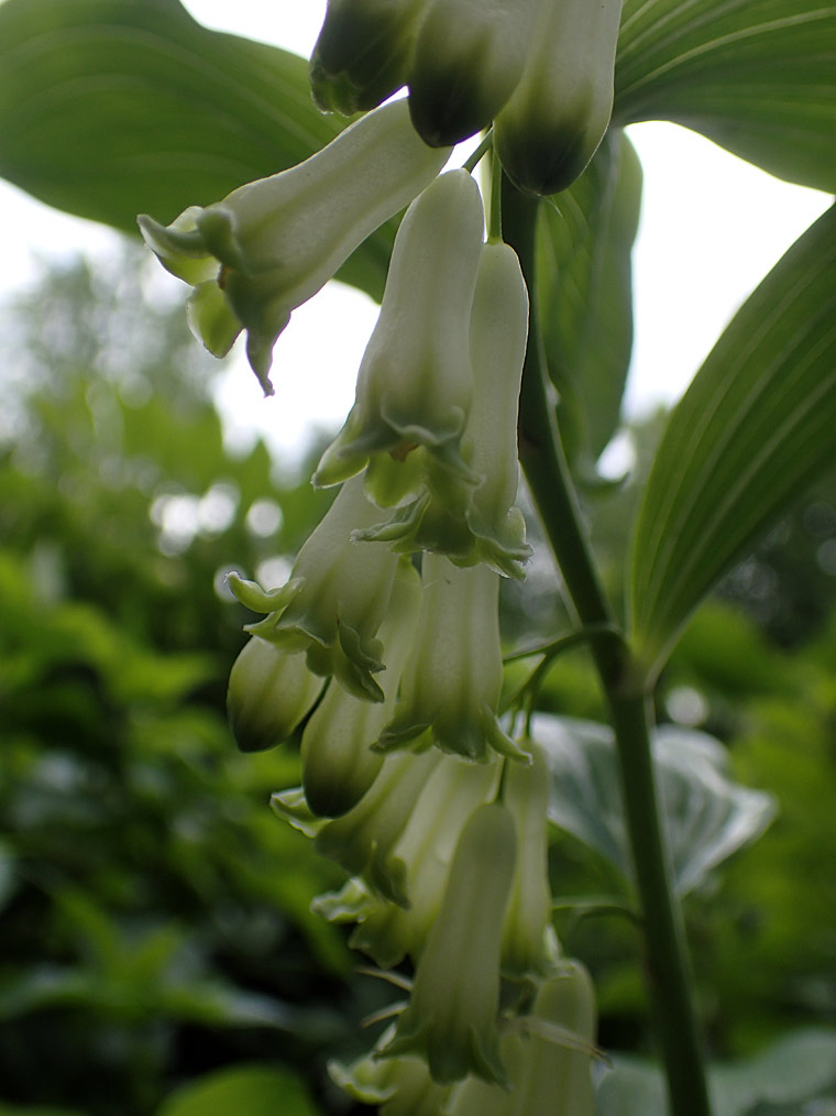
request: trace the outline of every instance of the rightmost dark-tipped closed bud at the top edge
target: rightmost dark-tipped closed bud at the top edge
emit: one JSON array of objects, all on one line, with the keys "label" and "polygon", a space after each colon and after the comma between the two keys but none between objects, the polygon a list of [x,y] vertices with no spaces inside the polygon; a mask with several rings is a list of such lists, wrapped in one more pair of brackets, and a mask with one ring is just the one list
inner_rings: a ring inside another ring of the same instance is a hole
[{"label": "rightmost dark-tipped closed bud at the top edge", "polygon": [[521,190],[553,194],[583,172],[612,114],[622,0],[543,0],[523,77],[494,124]]}]

